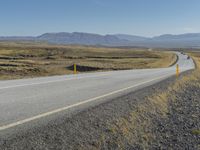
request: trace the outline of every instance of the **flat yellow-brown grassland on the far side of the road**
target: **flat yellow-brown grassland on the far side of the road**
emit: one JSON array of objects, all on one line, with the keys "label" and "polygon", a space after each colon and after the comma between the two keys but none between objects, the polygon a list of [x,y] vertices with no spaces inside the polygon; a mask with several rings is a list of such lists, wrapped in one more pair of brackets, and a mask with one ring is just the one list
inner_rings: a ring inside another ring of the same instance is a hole
[{"label": "flat yellow-brown grassland on the far side of the road", "polygon": [[0,42],[0,79],[72,74],[73,64],[81,73],[168,67],[175,61],[173,53],[141,48]]}]

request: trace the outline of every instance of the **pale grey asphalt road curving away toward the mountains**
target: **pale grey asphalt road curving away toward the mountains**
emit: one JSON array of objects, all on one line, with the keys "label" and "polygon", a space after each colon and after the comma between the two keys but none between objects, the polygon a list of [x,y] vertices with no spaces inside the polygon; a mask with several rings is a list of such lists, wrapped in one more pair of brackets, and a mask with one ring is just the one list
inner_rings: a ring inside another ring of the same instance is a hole
[{"label": "pale grey asphalt road curving away toward the mountains", "polygon": [[[180,71],[194,68],[177,53]],[[85,73],[0,81],[0,133],[47,117],[157,83],[176,73],[169,68]]]}]

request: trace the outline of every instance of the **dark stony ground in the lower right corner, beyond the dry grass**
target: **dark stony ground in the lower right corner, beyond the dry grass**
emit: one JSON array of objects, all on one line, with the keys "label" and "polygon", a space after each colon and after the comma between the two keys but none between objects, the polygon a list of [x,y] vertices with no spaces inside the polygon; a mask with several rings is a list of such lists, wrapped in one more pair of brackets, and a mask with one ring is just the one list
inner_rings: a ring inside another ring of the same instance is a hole
[{"label": "dark stony ground in the lower right corner, beyond the dry grass", "polygon": [[200,87],[188,86],[170,100],[167,117],[154,117],[151,149],[200,149]]}]

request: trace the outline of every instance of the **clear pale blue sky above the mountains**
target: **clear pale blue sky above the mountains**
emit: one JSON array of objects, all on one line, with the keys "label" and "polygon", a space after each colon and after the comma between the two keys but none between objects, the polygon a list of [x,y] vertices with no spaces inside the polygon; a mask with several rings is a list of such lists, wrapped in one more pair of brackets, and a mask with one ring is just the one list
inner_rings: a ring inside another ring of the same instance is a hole
[{"label": "clear pale blue sky above the mountains", "polygon": [[1,0],[0,36],[200,32],[200,0]]}]

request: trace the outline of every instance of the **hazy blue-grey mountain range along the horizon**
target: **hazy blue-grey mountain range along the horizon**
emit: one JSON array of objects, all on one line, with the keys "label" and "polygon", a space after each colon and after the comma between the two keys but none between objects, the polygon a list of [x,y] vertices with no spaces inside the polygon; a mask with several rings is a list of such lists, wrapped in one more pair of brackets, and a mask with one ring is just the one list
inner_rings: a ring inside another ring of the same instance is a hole
[{"label": "hazy blue-grey mountain range along the horizon", "polygon": [[52,44],[80,44],[102,46],[134,46],[162,48],[200,48],[200,33],[165,34],[152,38],[115,34],[99,35],[80,32],[45,33],[37,37],[0,37],[0,41],[45,41]]}]

